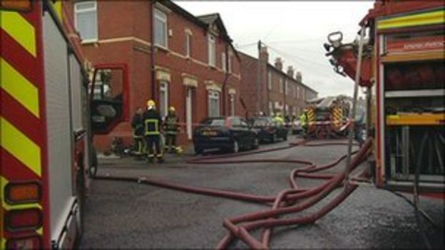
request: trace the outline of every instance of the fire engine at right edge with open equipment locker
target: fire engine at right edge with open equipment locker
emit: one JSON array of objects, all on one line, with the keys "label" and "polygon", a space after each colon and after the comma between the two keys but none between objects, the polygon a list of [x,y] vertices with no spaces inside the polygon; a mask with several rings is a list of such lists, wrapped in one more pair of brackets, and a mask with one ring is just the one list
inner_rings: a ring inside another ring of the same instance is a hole
[{"label": "fire engine at right edge with open equipment locker", "polygon": [[356,41],[334,32],[324,44],[365,88],[377,187],[444,198],[444,20],[444,1],[378,0]]}]

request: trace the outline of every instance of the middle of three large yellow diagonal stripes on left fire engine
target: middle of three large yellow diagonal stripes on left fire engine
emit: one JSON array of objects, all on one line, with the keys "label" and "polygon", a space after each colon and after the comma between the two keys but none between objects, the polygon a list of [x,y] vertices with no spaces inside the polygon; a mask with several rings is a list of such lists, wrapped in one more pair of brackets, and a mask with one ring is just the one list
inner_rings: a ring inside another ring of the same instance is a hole
[{"label": "middle of three large yellow diagonal stripes on left fire engine", "polygon": [[0,86],[39,118],[39,89],[1,57]]}]

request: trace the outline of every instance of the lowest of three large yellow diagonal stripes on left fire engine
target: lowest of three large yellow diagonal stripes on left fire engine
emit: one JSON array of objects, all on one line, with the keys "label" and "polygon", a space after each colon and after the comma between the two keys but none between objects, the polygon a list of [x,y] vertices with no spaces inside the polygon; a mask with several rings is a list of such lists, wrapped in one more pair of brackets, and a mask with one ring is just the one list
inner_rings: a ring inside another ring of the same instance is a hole
[{"label": "lowest of three large yellow diagonal stripes on left fire engine", "polygon": [[[29,137],[0,116],[0,146],[41,177],[41,150]],[[8,167],[8,166],[4,166]]]}]

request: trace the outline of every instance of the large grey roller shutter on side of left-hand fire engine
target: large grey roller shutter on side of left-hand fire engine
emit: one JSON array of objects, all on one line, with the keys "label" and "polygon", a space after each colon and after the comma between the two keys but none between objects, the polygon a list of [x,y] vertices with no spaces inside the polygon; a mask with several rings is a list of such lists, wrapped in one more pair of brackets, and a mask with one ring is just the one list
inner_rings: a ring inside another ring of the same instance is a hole
[{"label": "large grey roller shutter on side of left-hand fire engine", "polygon": [[44,14],[43,31],[51,239],[58,239],[74,199],[68,48],[47,12]]}]

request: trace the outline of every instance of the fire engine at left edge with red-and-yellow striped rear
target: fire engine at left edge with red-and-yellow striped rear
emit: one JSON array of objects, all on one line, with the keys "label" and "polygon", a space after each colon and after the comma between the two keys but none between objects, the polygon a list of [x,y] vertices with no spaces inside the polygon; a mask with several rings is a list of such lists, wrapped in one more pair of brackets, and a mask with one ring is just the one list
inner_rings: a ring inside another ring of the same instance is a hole
[{"label": "fire engine at left edge with red-and-yellow striped rear", "polygon": [[87,79],[61,1],[0,1],[0,249],[71,248],[91,166]]}]

